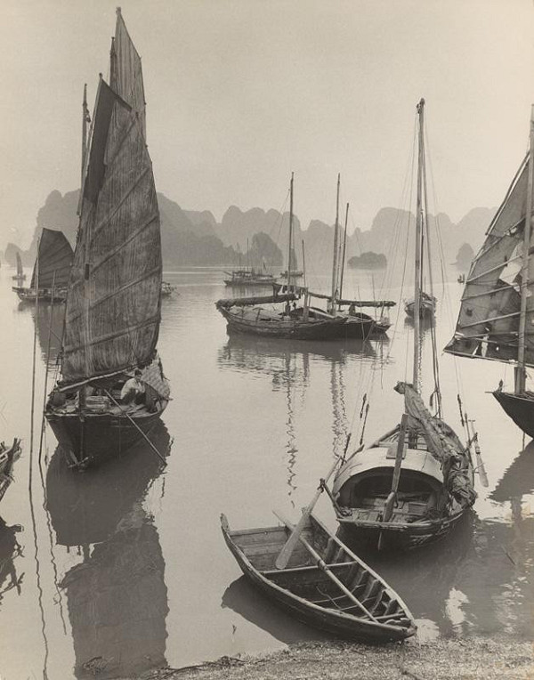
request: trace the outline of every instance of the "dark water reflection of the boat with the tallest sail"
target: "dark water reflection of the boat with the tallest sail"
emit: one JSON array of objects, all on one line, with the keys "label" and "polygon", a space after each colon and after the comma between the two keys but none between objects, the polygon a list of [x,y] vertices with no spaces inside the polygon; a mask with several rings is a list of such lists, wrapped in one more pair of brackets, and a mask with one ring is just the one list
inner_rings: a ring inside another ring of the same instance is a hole
[{"label": "dark water reflection of the boat with the tallest sail", "polygon": [[[168,452],[163,423],[152,438]],[[46,498],[57,543],[81,557],[60,584],[77,677],[126,676],[166,665],[165,562],[154,518],[142,506],[161,472],[147,446],[84,474],[69,469],[59,448],[50,461]]]}]

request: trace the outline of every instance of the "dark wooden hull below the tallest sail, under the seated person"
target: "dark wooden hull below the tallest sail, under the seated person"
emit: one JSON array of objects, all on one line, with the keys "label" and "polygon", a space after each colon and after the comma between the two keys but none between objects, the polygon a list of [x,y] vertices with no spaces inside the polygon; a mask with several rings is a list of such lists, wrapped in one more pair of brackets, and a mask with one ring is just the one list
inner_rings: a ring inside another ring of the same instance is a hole
[{"label": "dark wooden hull below the tallest sail, under the seated person", "polygon": [[59,414],[49,408],[44,416],[72,465],[84,469],[88,465],[100,465],[108,458],[122,456],[134,444],[143,441],[143,434],[150,434],[158,425],[165,407],[166,403],[156,413],[132,416],[137,427],[125,415],[109,413],[85,413],[84,417],[80,417],[79,413]]}]

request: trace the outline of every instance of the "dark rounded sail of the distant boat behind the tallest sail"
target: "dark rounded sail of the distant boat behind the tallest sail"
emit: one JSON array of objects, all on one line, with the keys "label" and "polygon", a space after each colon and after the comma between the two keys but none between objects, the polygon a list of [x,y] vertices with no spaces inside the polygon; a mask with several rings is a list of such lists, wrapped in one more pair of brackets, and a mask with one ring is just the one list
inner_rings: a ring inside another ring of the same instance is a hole
[{"label": "dark rounded sail of the distant boat behind the tallest sail", "polygon": [[73,257],[72,248],[62,231],[43,229],[39,239],[39,253],[31,275],[31,287],[35,288],[37,285],[37,265],[39,288],[66,287]]}]

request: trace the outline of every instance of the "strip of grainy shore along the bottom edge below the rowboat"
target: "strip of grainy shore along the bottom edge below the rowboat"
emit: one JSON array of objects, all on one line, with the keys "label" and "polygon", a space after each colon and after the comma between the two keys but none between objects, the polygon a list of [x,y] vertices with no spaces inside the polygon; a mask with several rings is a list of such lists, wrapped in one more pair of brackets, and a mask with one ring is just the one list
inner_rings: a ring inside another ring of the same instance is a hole
[{"label": "strip of grainy shore along the bottom edge below the rowboat", "polygon": [[534,679],[529,642],[466,638],[373,647],[305,643],[255,657],[223,657],[187,668],[159,668],[139,680],[522,680]]}]

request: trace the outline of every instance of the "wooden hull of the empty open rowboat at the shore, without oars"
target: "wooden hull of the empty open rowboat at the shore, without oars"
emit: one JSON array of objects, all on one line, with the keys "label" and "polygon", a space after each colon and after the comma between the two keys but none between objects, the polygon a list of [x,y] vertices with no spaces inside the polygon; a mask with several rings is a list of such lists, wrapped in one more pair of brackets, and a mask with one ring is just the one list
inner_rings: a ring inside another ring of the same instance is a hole
[{"label": "wooden hull of the empty open rowboat at the shore, without oars", "polygon": [[[321,529],[325,530],[315,518],[312,517],[311,519],[319,524]],[[327,599],[324,599],[325,591],[328,591],[328,577],[325,576],[320,565],[308,561],[303,563],[298,556],[292,556],[286,570],[277,571],[274,567],[266,570],[256,568],[253,561],[266,563],[271,560],[269,555],[266,557],[261,555],[262,551],[263,553],[274,551],[271,555],[273,560],[284,545],[289,533],[282,533],[282,540],[279,541],[279,539],[277,540],[277,530],[282,530],[281,527],[238,532],[230,531],[227,524],[225,526],[225,522],[226,520],[223,518],[224,540],[239,563],[241,571],[255,587],[262,590],[264,595],[295,619],[331,635],[373,643],[403,640],[416,632],[413,617],[399,595],[392,591],[374,571],[371,571],[367,564],[353,555],[346,546],[343,546],[339,539],[336,539],[337,543],[334,545],[335,538],[328,531],[325,530],[324,545],[326,551],[322,554],[328,568],[339,568],[336,569],[336,574],[339,579],[346,580],[347,583],[350,583],[351,580],[354,584],[360,581],[361,585],[352,585],[352,592],[362,593],[362,602],[368,602],[368,606],[370,606],[369,603],[376,600],[376,602],[381,603],[381,607],[384,607],[380,611],[389,611],[390,609],[393,611],[394,609],[395,613],[385,614],[383,617],[376,614],[379,620],[371,620],[366,617],[363,611],[359,611],[358,616],[349,613],[348,610],[354,611],[355,608],[353,606],[347,607],[343,595],[339,595],[339,593],[333,592],[333,596],[327,594]],[[250,547],[237,545],[236,535],[245,538],[247,541],[253,540],[254,545]],[[333,558],[328,559],[328,538],[332,542],[332,552],[337,552],[337,555],[340,555],[341,563],[329,564]],[[338,547],[340,545],[343,546],[341,549]],[[255,556],[250,556],[249,559],[246,555],[247,551]],[[355,558],[352,562],[344,562],[349,559],[352,560],[352,558]],[[342,569],[352,569],[352,571],[345,571],[345,575],[343,575]],[[304,595],[312,592],[314,587],[316,594],[320,594],[319,599],[315,602],[312,599],[307,599]],[[363,599],[364,597],[366,599]],[[397,623],[393,623],[394,619],[397,620]]]}]

